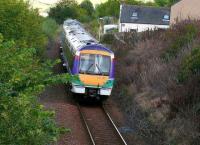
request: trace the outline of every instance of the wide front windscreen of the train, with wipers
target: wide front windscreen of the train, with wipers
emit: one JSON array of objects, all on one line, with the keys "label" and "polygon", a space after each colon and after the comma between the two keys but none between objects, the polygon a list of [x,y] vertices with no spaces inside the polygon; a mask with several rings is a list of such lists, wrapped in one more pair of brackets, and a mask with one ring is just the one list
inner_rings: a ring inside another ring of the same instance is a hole
[{"label": "wide front windscreen of the train, with wipers", "polygon": [[99,54],[81,54],[79,73],[94,75],[109,75],[111,57]]}]

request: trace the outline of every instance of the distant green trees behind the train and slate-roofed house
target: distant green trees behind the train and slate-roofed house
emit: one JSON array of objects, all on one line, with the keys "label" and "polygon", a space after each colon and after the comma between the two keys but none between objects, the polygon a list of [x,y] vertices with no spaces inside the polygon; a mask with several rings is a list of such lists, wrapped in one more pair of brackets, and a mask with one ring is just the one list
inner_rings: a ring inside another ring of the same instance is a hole
[{"label": "distant green trees behind the train and slate-roofed house", "polygon": [[[125,0],[123,3],[141,6],[170,6],[174,0],[157,0],[155,3],[144,3],[138,0]],[[55,7],[50,9],[49,16],[62,24],[67,18],[78,19],[83,23],[98,20],[101,17],[119,18],[120,0],[108,0],[95,6],[90,0],[84,0],[78,4],[76,0],[61,0]]]}]

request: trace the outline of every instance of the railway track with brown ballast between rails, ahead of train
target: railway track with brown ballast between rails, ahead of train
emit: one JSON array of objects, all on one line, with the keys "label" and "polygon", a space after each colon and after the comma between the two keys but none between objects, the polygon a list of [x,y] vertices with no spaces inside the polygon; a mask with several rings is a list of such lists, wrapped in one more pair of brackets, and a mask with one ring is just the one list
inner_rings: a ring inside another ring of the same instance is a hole
[{"label": "railway track with brown ballast between rails, ahead of train", "polygon": [[127,145],[104,106],[77,106],[92,145]]}]

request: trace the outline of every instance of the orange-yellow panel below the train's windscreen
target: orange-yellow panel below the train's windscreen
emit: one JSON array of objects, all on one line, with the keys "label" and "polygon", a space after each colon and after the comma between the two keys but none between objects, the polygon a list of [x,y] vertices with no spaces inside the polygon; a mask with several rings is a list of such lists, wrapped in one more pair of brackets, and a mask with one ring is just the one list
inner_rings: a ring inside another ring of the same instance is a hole
[{"label": "orange-yellow panel below the train's windscreen", "polygon": [[109,79],[108,76],[79,74],[80,80],[86,85],[102,86]]}]

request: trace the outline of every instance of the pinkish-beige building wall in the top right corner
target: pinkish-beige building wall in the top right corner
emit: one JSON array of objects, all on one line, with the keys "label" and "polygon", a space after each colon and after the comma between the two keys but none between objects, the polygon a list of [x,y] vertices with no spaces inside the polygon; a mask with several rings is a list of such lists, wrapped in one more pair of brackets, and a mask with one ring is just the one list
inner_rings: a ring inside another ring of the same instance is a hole
[{"label": "pinkish-beige building wall in the top right corner", "polygon": [[182,0],[171,7],[170,24],[188,18],[200,19],[200,0]]}]

